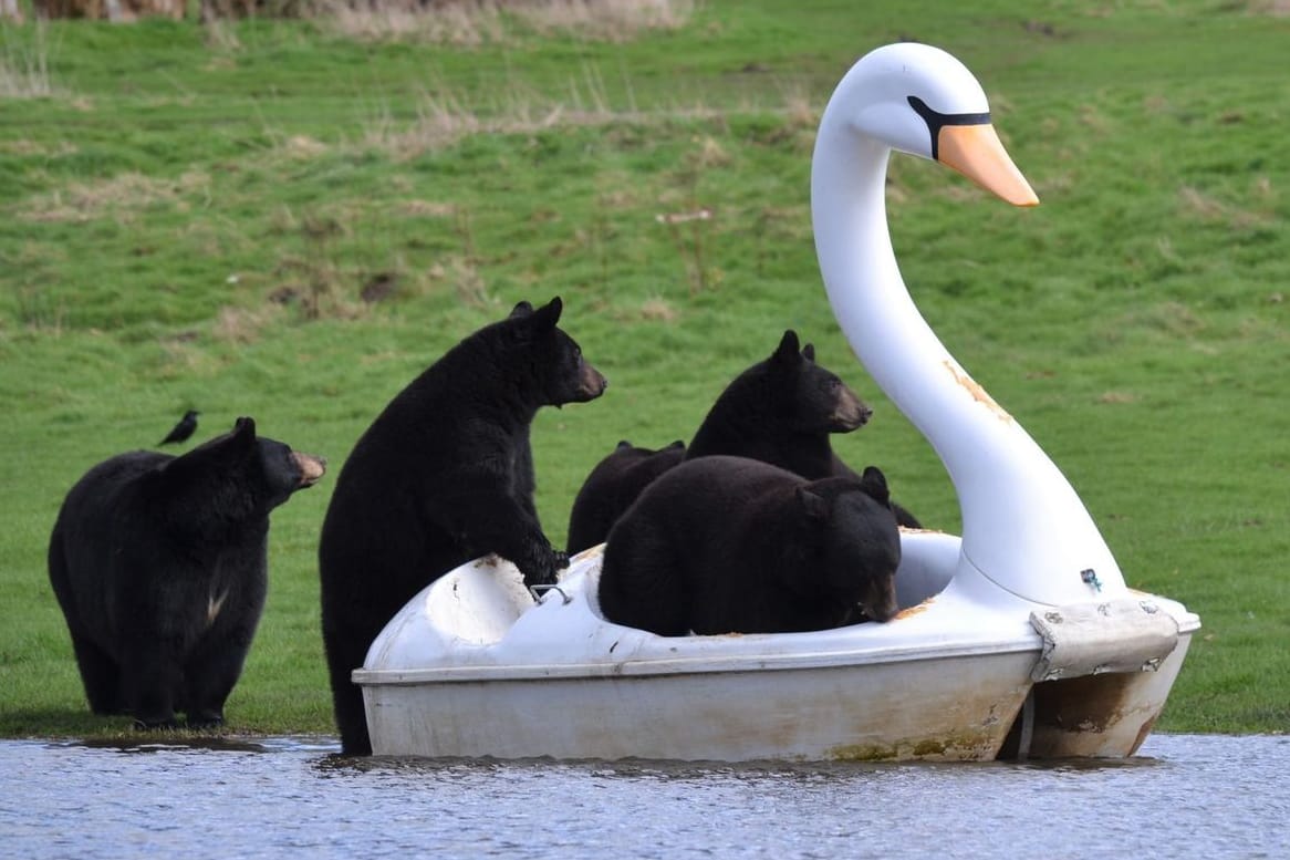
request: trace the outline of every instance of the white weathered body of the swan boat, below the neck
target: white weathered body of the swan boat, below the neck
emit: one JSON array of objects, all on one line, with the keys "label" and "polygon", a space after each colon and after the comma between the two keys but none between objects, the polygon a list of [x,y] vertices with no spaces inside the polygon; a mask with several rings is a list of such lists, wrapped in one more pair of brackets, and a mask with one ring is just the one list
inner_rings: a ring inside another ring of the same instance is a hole
[{"label": "white weathered body of the swan boat, below the neck", "polygon": [[560,590],[538,603],[506,562],[462,566],[409,602],[353,673],[373,753],[991,761],[1001,750],[1122,757],[1138,749],[1196,616],[1134,597],[1165,607],[1169,621],[1148,620],[1148,635],[1136,620],[1121,625],[1134,631],[1126,640],[1142,660],[1108,647],[1106,630],[1094,647],[1115,657],[1108,665],[1153,670],[1036,682],[1037,666],[1053,657],[1029,622],[1036,607],[988,582],[938,582],[938,569],[953,569],[955,537],[909,533],[904,544],[898,581],[906,591],[939,593],[907,594],[911,608],[885,625],[793,634],[666,638],[608,622],[595,603],[599,549],[578,557]]}]

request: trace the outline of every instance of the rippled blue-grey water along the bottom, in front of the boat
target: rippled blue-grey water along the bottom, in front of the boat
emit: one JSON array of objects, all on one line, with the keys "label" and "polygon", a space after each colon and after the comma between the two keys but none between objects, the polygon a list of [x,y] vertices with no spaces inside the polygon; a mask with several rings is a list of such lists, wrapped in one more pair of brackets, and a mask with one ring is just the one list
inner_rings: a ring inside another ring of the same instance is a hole
[{"label": "rippled blue-grey water along the bottom, in front of the boat", "polygon": [[1059,764],[351,761],[0,741],[0,857],[1285,857],[1290,737]]}]

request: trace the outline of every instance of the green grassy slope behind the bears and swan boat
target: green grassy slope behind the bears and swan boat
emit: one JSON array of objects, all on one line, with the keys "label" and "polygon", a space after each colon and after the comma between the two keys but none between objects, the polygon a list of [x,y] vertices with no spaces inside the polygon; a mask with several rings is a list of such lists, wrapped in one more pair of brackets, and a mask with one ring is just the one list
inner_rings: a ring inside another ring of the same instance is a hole
[{"label": "green grassy slope behind the bears and swan boat", "polygon": [[[840,453],[957,531],[939,461],[832,320],[809,223],[818,112],[855,57],[900,37],[977,72],[1042,199],[1015,210],[894,160],[920,309],[1072,479],[1130,584],[1201,615],[1160,727],[1285,731],[1290,18],[951,5],[710,1],[622,40],[510,27],[481,44],[0,23],[0,735],[125,731],[89,715],[45,573],[90,465],[195,407],[199,439],[252,415],[334,476],[390,396],[521,298],[562,296],[611,382],[537,422],[553,540],[618,439],[688,439],[789,327],[876,409]],[[332,731],[315,562],[330,492],[273,515],[232,732]]]}]

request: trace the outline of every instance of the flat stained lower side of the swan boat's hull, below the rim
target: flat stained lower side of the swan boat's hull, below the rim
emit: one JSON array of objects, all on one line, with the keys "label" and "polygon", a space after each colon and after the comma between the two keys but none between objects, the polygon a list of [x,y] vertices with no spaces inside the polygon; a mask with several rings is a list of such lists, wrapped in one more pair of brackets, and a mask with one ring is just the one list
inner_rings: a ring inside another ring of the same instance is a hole
[{"label": "flat stained lower side of the swan boat's hull, below the rim", "polygon": [[[557,759],[992,759],[1024,653],[916,664],[368,687],[373,752]],[[942,682],[953,673],[962,684]],[[917,691],[911,695],[911,691]],[[504,708],[494,717],[489,712]]]}]

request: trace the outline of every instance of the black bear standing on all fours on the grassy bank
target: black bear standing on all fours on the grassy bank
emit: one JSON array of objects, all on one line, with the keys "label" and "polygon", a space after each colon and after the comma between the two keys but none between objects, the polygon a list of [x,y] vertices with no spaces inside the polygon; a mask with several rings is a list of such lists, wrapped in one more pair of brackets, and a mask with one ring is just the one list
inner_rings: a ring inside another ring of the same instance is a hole
[{"label": "black bear standing on all fours on the grassy bank", "polygon": [[49,581],[95,714],[223,722],[264,608],[268,514],[325,467],[237,418],[181,457],[124,453],[71,488]]}]

